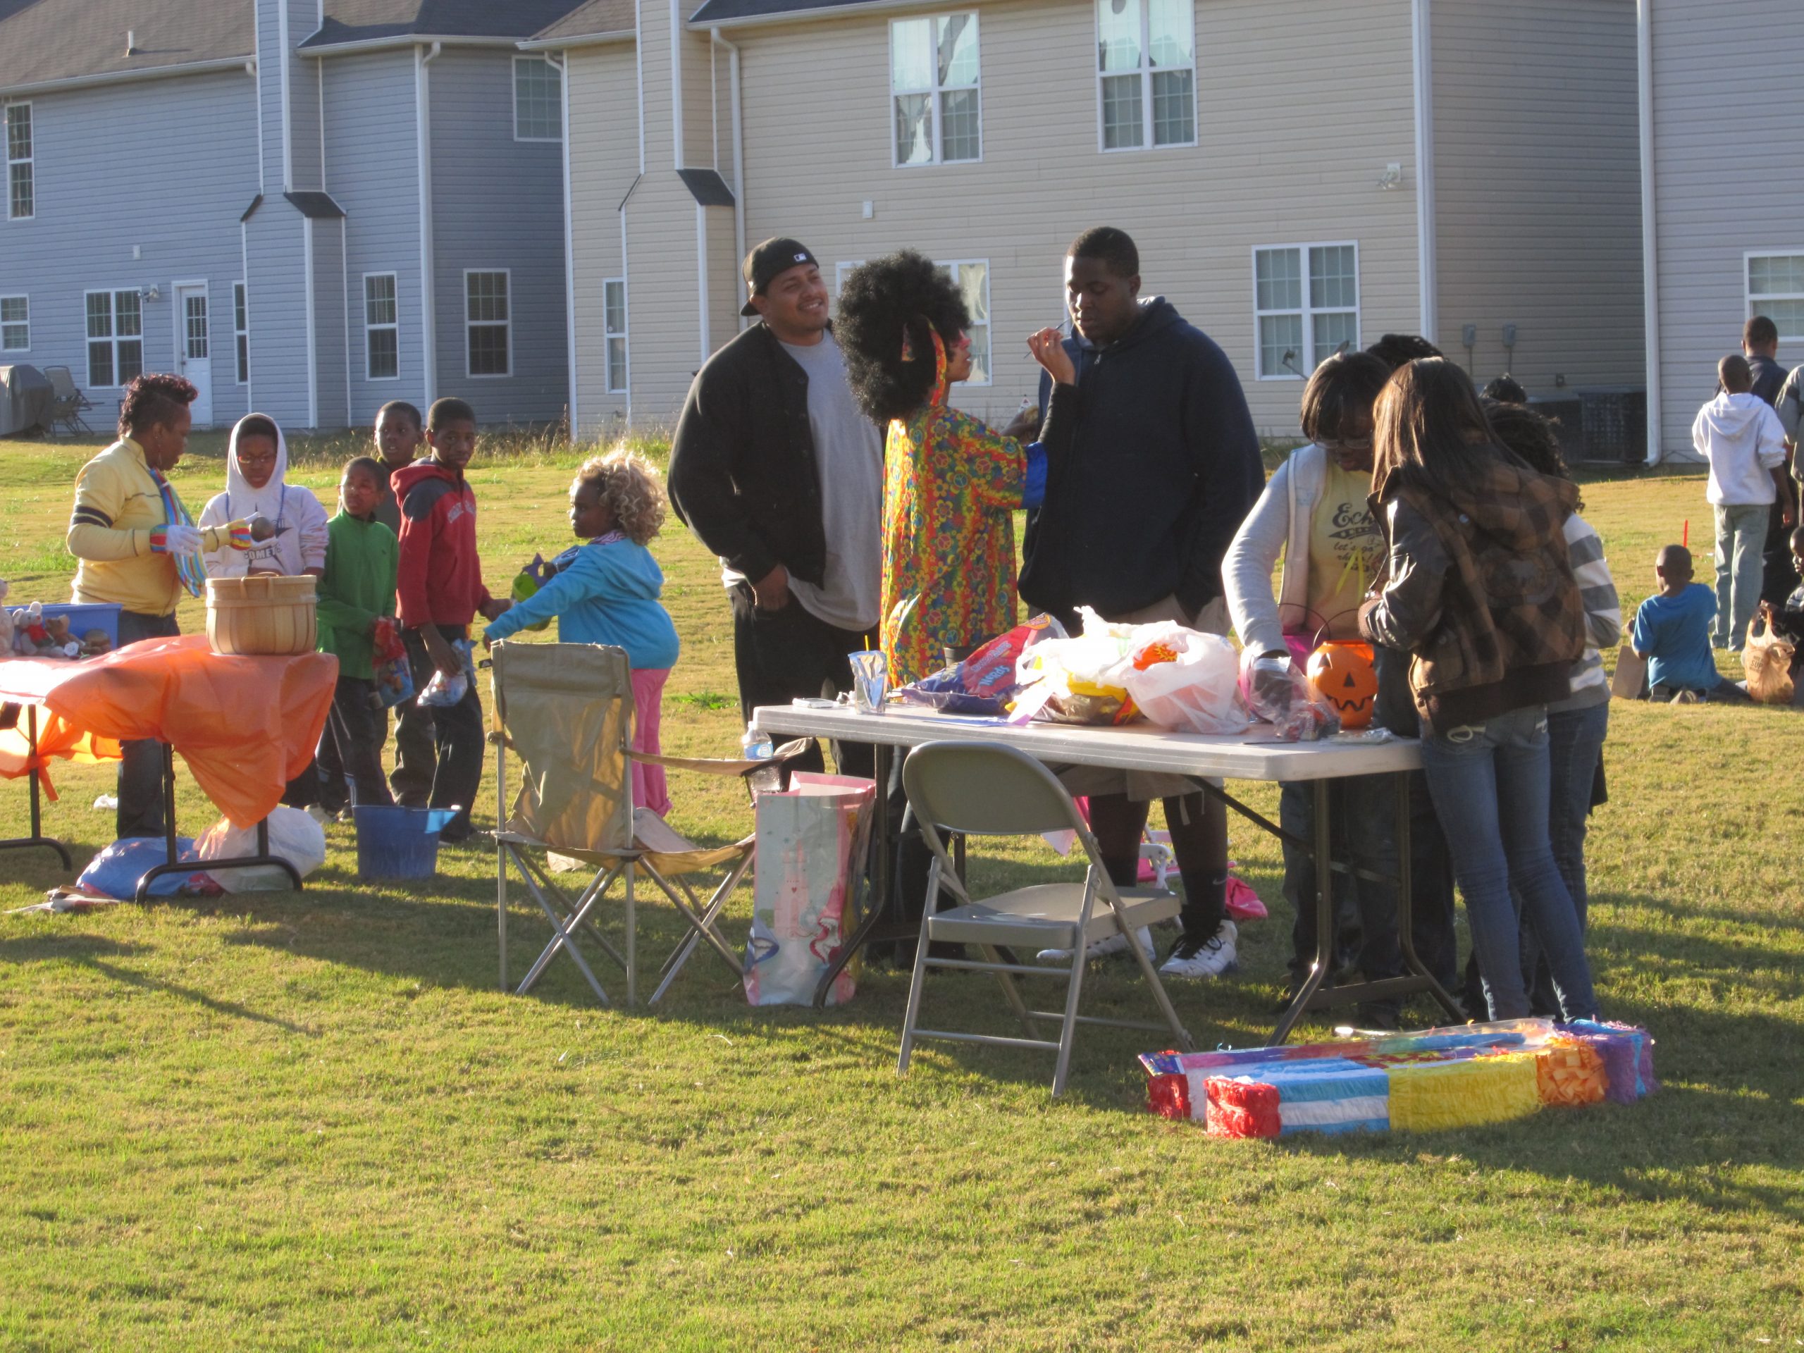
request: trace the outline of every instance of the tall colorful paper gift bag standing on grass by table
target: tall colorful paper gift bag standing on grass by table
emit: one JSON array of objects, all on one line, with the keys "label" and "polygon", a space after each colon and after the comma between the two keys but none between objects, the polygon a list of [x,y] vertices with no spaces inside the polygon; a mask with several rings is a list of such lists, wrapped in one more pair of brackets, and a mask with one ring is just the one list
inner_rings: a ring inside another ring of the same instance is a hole
[{"label": "tall colorful paper gift bag standing on grass by table", "polygon": [[[759,794],[758,862],[752,875],[752,936],[745,945],[745,999],[808,1005],[839,954],[857,879],[864,870],[877,783],[853,776],[797,772],[785,792]],[[828,1005],[851,999],[851,969]]]}]

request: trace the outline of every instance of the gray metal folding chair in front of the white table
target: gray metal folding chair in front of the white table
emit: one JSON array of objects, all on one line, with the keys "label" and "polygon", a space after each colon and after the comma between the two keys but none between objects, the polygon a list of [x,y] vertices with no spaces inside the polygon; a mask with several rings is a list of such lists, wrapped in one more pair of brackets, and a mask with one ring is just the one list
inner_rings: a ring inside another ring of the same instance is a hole
[{"label": "gray metal folding chair in front of the white table", "polygon": [[[1072,803],[1072,796],[1046,767],[1025,752],[1003,743],[983,741],[929,741],[909,752],[902,763],[902,787],[909,808],[920,823],[920,835],[933,851],[927,873],[927,906],[920,918],[920,940],[915,945],[915,978],[907,990],[907,1012],[902,1017],[902,1055],[897,1073],[907,1072],[915,1039],[953,1039],[958,1043],[992,1043],[1005,1048],[1043,1048],[1057,1052],[1059,1063],[1052,1077],[1052,1093],[1064,1093],[1064,1077],[1072,1063],[1072,1037],[1077,1025],[1118,1025],[1122,1028],[1167,1030],[1180,1048],[1191,1048],[1191,1035],[1178,1023],[1176,1010],[1165,996],[1146,951],[1133,942],[1135,931],[1178,915],[1178,898],[1164,889],[1117,888],[1109,882],[1097,839]],[[940,832],[965,835],[1039,835],[1045,832],[1073,832],[1090,855],[1084,880],[1070,884],[1034,884],[1016,888],[999,897],[976,902],[965,891],[953,859],[945,851]],[[953,893],[963,906],[934,911],[940,889]],[[1077,1014],[1077,998],[1084,981],[1084,953],[1088,945],[1109,934],[1129,936],[1128,951],[1140,963],[1153,999],[1158,1001],[1164,1025],[1138,1019],[1100,1019]],[[936,942],[971,943],[983,962],[969,958],[933,958],[929,947]],[[1026,967],[1005,962],[999,949],[1016,953],[1035,949],[1068,949],[1066,967]],[[920,998],[929,967],[972,969],[994,972],[1003,996],[1021,1021],[1025,1037],[996,1037],[989,1034],[953,1034],[920,1028]],[[1017,976],[1064,976],[1064,1010],[1028,1010],[1021,999]],[[1039,1035],[1041,1023],[1057,1023],[1059,1039]]]}]

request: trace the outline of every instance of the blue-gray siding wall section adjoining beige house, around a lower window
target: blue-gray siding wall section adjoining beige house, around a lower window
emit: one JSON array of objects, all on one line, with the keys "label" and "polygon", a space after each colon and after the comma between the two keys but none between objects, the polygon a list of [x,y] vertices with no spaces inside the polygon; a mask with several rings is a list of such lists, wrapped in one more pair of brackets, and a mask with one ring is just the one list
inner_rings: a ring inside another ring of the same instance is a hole
[{"label": "blue-gray siding wall section adjoining beige house, around a lower window", "polygon": [[[482,422],[563,417],[568,390],[563,148],[514,141],[511,51],[447,47],[428,67],[438,393]],[[464,272],[507,271],[511,375],[467,375]]]}]

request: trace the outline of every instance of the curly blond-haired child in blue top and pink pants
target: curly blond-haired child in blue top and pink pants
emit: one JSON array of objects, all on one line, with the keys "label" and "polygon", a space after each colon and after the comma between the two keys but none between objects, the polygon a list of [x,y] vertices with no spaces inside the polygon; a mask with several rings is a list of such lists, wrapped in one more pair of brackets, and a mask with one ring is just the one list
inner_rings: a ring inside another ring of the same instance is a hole
[{"label": "curly blond-haired child in blue top and pink pants", "polygon": [[[621,449],[583,462],[570,483],[574,545],[552,561],[552,577],[534,595],[489,622],[483,644],[557,617],[565,644],[613,644],[633,669],[635,752],[658,754],[664,682],[676,664],[676,626],[658,604],[664,572],[646,543],[664,525],[664,485],[657,471]],[[633,761],[633,806],[658,817],[671,810],[664,767]]]}]

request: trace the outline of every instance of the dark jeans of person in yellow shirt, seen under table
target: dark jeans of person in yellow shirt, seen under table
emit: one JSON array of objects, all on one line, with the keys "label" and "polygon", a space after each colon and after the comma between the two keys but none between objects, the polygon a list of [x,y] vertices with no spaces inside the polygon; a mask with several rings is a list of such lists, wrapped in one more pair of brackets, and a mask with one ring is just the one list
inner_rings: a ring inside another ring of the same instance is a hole
[{"label": "dark jeans of person in yellow shirt, seen under table", "polygon": [[[1337,861],[1396,877],[1396,783],[1393,776],[1353,776],[1328,785],[1328,812],[1333,819]],[[1315,842],[1315,785],[1306,781],[1279,785],[1277,823],[1293,837]],[[1302,981],[1317,951],[1317,875],[1315,859],[1284,842],[1284,897],[1295,907],[1290,931],[1292,981]],[[1351,888],[1358,906],[1358,967],[1367,981],[1400,978],[1404,953],[1396,942],[1396,888],[1371,879],[1335,879],[1335,895]]]}]

